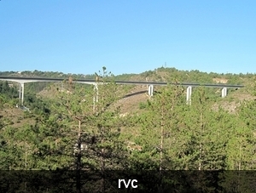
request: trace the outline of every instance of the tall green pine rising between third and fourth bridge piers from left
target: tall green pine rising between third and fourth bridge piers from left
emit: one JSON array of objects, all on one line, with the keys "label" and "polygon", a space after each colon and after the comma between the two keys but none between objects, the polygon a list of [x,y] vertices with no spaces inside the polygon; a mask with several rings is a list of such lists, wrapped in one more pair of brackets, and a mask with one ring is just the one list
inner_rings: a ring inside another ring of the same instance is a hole
[{"label": "tall green pine rising between third and fourth bridge piers from left", "polygon": [[173,169],[176,167],[175,158],[170,152],[176,147],[175,139],[180,126],[178,111],[185,104],[183,89],[178,86],[162,88],[160,94],[148,103],[149,111],[142,117],[140,143],[144,146],[143,151],[153,158],[153,162],[158,162],[159,170]]}]

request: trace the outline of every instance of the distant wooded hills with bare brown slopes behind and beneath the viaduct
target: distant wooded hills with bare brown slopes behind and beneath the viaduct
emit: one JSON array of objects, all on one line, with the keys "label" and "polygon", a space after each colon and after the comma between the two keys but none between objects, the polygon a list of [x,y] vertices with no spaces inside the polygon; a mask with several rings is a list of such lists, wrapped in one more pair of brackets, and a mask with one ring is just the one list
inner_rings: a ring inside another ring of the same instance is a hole
[{"label": "distant wooded hills with bare brown slopes behind and beneath the viaduct", "polygon": [[[22,72],[0,72],[0,76],[10,77],[73,77],[77,79],[95,79],[95,75],[73,75],[63,74],[61,72],[43,72],[43,71],[22,71]],[[224,108],[232,114],[236,113],[237,107],[241,105],[241,102],[246,100],[255,99],[253,96],[252,84],[253,74],[217,74],[206,73],[200,71],[178,71],[175,68],[159,68],[154,71],[145,71],[141,74],[123,74],[115,76],[115,80],[125,81],[152,81],[152,82],[195,82],[195,83],[224,83],[224,84],[237,84],[245,85],[244,88],[229,89],[228,95],[224,99],[221,98],[221,89],[219,88],[206,88],[207,97],[212,99],[212,110],[218,111],[219,107]],[[15,82],[9,82],[10,85],[15,85],[13,88],[18,88]],[[80,85],[81,86],[81,85]],[[84,85],[88,89],[93,89],[89,85]],[[12,89],[13,89],[12,88]],[[121,116],[127,116],[129,114],[140,114],[145,111],[147,106],[147,100],[150,100],[148,96],[147,86],[128,86],[119,85],[118,92],[119,100],[110,105],[110,108],[119,107]],[[154,87],[154,93],[158,93],[161,87]],[[193,88],[195,91],[198,88]],[[30,108],[31,111],[48,111],[46,104],[55,100],[55,96],[63,91],[63,83],[49,83],[49,82],[31,82],[26,83],[25,105]],[[192,98],[193,93],[192,92]],[[67,90],[65,92],[68,92]],[[6,100],[9,105],[3,105],[3,109],[0,111],[0,115],[4,122],[9,122],[14,127],[21,127],[22,124],[30,124],[34,122],[34,118],[30,119],[29,116],[24,119],[24,112],[15,108],[15,104],[18,103],[18,94],[13,97],[12,100]],[[186,99],[185,88],[183,93],[183,99]],[[112,106],[112,107],[111,107]],[[12,121],[10,121],[12,120]],[[6,123],[4,123],[6,124]],[[132,129],[125,129],[129,133],[133,133]]]}]

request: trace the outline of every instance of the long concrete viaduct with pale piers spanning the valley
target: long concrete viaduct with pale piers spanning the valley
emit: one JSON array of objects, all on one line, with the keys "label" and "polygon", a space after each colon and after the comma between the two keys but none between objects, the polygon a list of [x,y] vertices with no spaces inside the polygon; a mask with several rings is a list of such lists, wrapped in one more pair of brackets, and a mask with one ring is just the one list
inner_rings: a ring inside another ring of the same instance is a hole
[{"label": "long concrete viaduct with pale piers spanning the valley", "polygon": [[[20,95],[21,105],[23,105],[24,101],[24,84],[26,82],[63,82],[67,80],[67,78],[48,78],[48,77],[0,77],[1,81],[9,81],[9,82],[18,82],[20,83]],[[77,83],[85,83],[85,84],[93,84],[97,91],[97,85],[101,84],[101,82],[96,82],[92,79],[81,79],[81,80],[73,80],[73,82]],[[131,85],[148,85],[148,95],[153,96],[154,86],[166,86],[168,82],[140,82],[140,81],[115,81],[116,84],[131,84]],[[200,84],[200,83],[170,83],[172,85],[180,85],[187,87],[187,103],[191,102],[191,94],[193,87],[208,87],[208,88],[222,88],[221,96],[224,98],[227,95],[228,88],[243,88],[243,85],[228,85],[228,84]],[[98,98],[94,98],[94,102],[97,102]]]}]

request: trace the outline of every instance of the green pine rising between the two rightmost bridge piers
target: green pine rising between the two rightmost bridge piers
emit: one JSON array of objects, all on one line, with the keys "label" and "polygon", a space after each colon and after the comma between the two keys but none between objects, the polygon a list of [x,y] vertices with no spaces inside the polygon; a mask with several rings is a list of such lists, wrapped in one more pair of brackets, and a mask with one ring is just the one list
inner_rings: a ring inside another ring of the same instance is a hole
[{"label": "green pine rising between the two rightmost bridge piers", "polygon": [[195,90],[192,105],[186,116],[189,133],[189,169],[224,169],[226,133],[222,128],[223,111],[212,111],[209,102],[204,88]]}]

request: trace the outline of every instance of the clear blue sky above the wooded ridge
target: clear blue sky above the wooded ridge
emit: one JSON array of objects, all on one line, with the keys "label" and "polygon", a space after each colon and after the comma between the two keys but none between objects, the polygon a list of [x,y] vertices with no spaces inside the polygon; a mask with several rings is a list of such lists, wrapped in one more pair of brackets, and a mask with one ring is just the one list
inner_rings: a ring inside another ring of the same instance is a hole
[{"label": "clear blue sky above the wooded ridge", "polygon": [[256,1],[2,0],[0,71],[256,73]]}]

